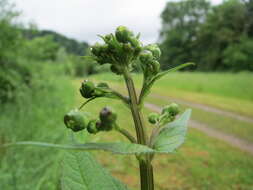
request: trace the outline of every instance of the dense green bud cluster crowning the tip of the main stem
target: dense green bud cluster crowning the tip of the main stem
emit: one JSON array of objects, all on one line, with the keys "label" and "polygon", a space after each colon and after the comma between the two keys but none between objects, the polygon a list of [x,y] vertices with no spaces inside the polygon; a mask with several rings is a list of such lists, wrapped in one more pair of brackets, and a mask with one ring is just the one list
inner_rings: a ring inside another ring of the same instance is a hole
[{"label": "dense green bud cluster crowning the tip of the main stem", "polygon": [[122,74],[124,67],[131,67],[131,61],[137,59],[142,50],[142,44],[125,26],[119,26],[115,34],[101,36],[104,44],[96,43],[91,47],[91,53],[99,64],[111,64],[111,71]]}]

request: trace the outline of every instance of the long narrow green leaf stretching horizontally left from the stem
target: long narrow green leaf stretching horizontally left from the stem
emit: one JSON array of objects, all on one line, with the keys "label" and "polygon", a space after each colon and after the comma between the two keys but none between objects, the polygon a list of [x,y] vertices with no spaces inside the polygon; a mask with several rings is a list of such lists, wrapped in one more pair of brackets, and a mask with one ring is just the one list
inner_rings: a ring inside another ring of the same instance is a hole
[{"label": "long narrow green leaf stretching horizontally left from the stem", "polygon": [[15,145],[34,145],[34,146],[79,150],[79,151],[104,150],[104,151],[112,152],[115,154],[146,154],[146,153],[154,152],[153,149],[147,146],[140,145],[140,144],[133,144],[133,143],[124,143],[124,142],[60,145],[60,144],[51,144],[51,143],[43,143],[43,142],[22,141],[22,142],[6,144],[3,147],[15,146]]}]

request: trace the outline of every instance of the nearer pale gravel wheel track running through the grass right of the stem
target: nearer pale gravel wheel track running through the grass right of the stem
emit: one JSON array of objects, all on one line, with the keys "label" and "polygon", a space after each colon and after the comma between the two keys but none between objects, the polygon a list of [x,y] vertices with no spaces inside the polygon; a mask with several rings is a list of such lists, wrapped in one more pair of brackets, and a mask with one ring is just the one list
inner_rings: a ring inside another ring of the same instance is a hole
[{"label": "nearer pale gravel wheel track running through the grass right of the stem", "polygon": [[[161,111],[161,107],[154,104],[146,103],[145,107],[155,112]],[[243,139],[239,139],[235,136],[220,132],[218,130],[213,129],[211,126],[198,122],[198,121],[190,120],[190,127],[200,130],[204,132],[205,134],[207,134],[208,136],[222,140],[230,144],[231,146],[237,147],[253,155],[253,143],[250,143]]]}]

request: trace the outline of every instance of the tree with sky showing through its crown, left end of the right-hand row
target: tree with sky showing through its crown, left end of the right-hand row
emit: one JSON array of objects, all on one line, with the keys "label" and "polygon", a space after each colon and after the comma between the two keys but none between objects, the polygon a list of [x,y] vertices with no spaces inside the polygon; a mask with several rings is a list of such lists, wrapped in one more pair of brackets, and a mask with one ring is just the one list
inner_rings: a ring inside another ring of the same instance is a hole
[{"label": "tree with sky showing through its crown, left end of the right-hand row", "polygon": [[[210,10],[206,0],[168,2],[161,14],[162,68],[194,61],[197,32]],[[190,58],[190,59],[189,59]]]}]

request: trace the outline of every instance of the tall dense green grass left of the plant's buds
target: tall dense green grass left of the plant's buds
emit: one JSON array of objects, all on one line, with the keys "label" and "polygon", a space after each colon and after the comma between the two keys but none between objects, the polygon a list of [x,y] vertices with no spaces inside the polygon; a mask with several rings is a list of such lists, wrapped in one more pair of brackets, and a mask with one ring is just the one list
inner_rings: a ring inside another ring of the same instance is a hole
[{"label": "tall dense green grass left of the plant's buds", "polygon": [[[0,142],[68,141],[63,115],[73,107],[76,92],[64,77],[47,81],[39,92],[26,92],[15,104],[1,106]],[[50,84],[50,85],[49,85]],[[50,93],[49,93],[50,92]],[[62,151],[38,147],[0,149],[0,189],[58,189]]]}]

